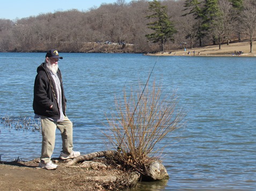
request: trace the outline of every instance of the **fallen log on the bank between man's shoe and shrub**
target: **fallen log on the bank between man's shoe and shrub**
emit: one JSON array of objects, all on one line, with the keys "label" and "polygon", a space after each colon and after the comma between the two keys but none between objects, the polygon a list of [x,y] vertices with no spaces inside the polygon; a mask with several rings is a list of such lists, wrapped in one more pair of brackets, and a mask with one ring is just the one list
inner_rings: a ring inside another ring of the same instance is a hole
[{"label": "fallen log on the bank between man's shoe and shrub", "polygon": [[105,151],[99,151],[99,152],[92,152],[90,154],[87,155],[81,155],[79,157],[76,157],[74,159],[72,159],[72,161],[69,161],[67,163],[67,165],[74,165],[76,163],[79,162],[83,162],[83,161],[91,161],[93,158],[96,157],[106,157],[106,156],[113,156],[115,154],[114,150],[105,150]]}]

